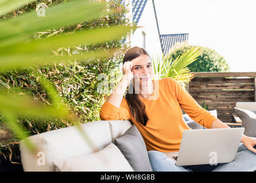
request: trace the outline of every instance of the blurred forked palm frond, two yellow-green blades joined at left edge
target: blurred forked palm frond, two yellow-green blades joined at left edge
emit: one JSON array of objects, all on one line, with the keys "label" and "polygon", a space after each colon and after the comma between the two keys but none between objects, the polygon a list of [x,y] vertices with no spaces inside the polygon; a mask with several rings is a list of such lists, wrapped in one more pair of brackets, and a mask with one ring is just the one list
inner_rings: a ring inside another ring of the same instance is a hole
[{"label": "blurred forked palm frond, two yellow-green blades joined at left edge", "polygon": [[106,55],[114,54],[115,50],[104,53],[102,50],[96,50],[94,53],[56,55],[52,50],[65,46],[76,46],[79,44],[96,44],[110,40],[122,38],[130,31],[129,26],[113,26],[97,28],[93,30],[79,31],[68,35],[59,35],[56,37],[42,38],[29,42],[18,42],[13,45],[0,47],[0,71],[17,69],[21,66],[30,66],[41,63],[51,63],[52,61],[64,61],[83,59],[83,58],[103,58]]}]

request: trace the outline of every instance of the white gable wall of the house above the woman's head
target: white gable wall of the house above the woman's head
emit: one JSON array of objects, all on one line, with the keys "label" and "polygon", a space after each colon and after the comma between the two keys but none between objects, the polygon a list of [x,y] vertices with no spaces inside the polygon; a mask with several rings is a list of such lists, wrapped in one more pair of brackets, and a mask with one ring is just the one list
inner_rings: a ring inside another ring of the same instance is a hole
[{"label": "white gable wall of the house above the woman's head", "polygon": [[138,26],[142,27],[134,31],[133,37],[131,38],[131,47],[143,47],[143,31],[146,33],[145,49],[150,55],[161,55],[162,49],[152,0],[148,0],[146,3],[141,18],[139,19]]}]

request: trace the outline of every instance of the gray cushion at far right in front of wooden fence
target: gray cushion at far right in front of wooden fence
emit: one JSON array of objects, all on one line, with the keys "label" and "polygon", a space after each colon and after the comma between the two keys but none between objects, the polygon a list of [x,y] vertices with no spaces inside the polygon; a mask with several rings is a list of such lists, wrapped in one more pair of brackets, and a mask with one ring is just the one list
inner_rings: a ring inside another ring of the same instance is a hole
[{"label": "gray cushion at far right in front of wooden fence", "polygon": [[256,137],[256,111],[234,108],[236,115],[241,118],[245,135]]}]

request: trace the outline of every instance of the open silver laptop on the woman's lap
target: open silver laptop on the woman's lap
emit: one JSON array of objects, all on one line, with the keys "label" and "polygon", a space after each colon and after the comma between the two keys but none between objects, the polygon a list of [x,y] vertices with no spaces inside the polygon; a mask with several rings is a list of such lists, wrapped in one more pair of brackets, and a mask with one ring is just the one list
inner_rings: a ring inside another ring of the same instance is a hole
[{"label": "open silver laptop on the woman's lap", "polygon": [[218,165],[235,160],[245,128],[184,130],[179,152],[165,152],[177,166]]}]

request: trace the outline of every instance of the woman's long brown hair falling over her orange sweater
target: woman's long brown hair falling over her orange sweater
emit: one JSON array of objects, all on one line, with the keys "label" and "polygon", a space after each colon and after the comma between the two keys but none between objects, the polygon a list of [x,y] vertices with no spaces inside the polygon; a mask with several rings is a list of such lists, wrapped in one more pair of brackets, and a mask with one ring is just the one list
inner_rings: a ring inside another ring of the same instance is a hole
[{"label": "woman's long brown hair falling over her orange sweater", "polygon": [[[150,57],[149,53],[142,47],[132,47],[126,52],[125,56],[123,57],[123,63],[131,61],[134,58],[137,58],[143,54],[146,54]],[[134,119],[140,122],[142,125],[146,126],[149,118],[146,114],[145,104],[143,104],[143,102],[139,100],[138,94],[135,94],[133,82],[131,82],[129,86],[129,92],[126,94],[125,99],[128,102],[131,115],[133,115]]]}]

